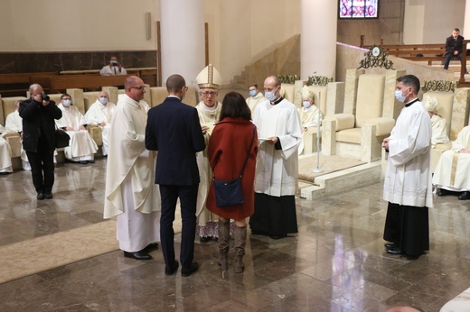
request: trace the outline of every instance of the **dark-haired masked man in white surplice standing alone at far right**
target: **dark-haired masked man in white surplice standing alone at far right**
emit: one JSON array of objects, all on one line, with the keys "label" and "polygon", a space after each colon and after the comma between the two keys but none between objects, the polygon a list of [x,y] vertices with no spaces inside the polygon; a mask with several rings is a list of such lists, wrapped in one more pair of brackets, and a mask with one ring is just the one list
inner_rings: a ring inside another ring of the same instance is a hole
[{"label": "dark-haired masked man in white surplice standing alone at far right", "polygon": [[395,97],[405,104],[390,137],[383,199],[389,201],[383,238],[390,254],[417,257],[429,249],[428,207],[433,206],[431,185],[431,120],[419,102],[419,79],[397,79]]}]

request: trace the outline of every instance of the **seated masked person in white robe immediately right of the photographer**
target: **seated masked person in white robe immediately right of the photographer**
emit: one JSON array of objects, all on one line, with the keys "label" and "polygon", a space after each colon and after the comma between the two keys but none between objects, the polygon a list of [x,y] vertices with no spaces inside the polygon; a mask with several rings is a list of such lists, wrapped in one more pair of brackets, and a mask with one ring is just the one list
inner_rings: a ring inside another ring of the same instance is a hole
[{"label": "seated masked person in white robe immediately right of the photographer", "polygon": [[97,143],[85,129],[87,122],[79,109],[71,105],[71,96],[63,94],[58,107],[62,111],[62,117],[55,124],[71,136],[69,146],[64,149],[65,158],[83,164],[94,162],[94,154],[98,151]]}]

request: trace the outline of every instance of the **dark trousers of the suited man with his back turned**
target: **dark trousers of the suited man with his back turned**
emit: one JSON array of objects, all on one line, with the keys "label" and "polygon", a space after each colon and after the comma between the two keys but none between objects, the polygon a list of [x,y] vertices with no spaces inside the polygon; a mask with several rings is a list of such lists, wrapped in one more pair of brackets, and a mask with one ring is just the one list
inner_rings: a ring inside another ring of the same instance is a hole
[{"label": "dark trousers of the suited man with his back turned", "polygon": [[199,184],[192,186],[176,186],[160,184],[162,211],[160,216],[160,239],[164,263],[174,263],[174,210],[180,197],[183,229],[181,234],[180,261],[182,267],[189,267],[194,257],[194,238],[196,235],[196,201]]}]

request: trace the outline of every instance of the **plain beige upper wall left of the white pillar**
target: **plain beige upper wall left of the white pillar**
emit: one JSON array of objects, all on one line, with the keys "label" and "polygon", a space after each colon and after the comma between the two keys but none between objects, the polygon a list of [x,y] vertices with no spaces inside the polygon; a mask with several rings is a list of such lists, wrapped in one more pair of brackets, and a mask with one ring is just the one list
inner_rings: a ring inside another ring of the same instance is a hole
[{"label": "plain beige upper wall left of the white pillar", "polygon": [[0,0],[0,7],[0,51],[156,49],[158,0]]}]

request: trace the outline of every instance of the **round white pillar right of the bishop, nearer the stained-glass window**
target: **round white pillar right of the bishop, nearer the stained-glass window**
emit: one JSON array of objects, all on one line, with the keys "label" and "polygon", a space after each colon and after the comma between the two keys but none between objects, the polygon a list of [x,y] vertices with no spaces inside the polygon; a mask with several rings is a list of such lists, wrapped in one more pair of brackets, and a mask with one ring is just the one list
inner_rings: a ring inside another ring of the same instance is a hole
[{"label": "round white pillar right of the bishop, nearer the stained-glass window", "polygon": [[300,77],[334,77],[338,2],[301,0]]}]

